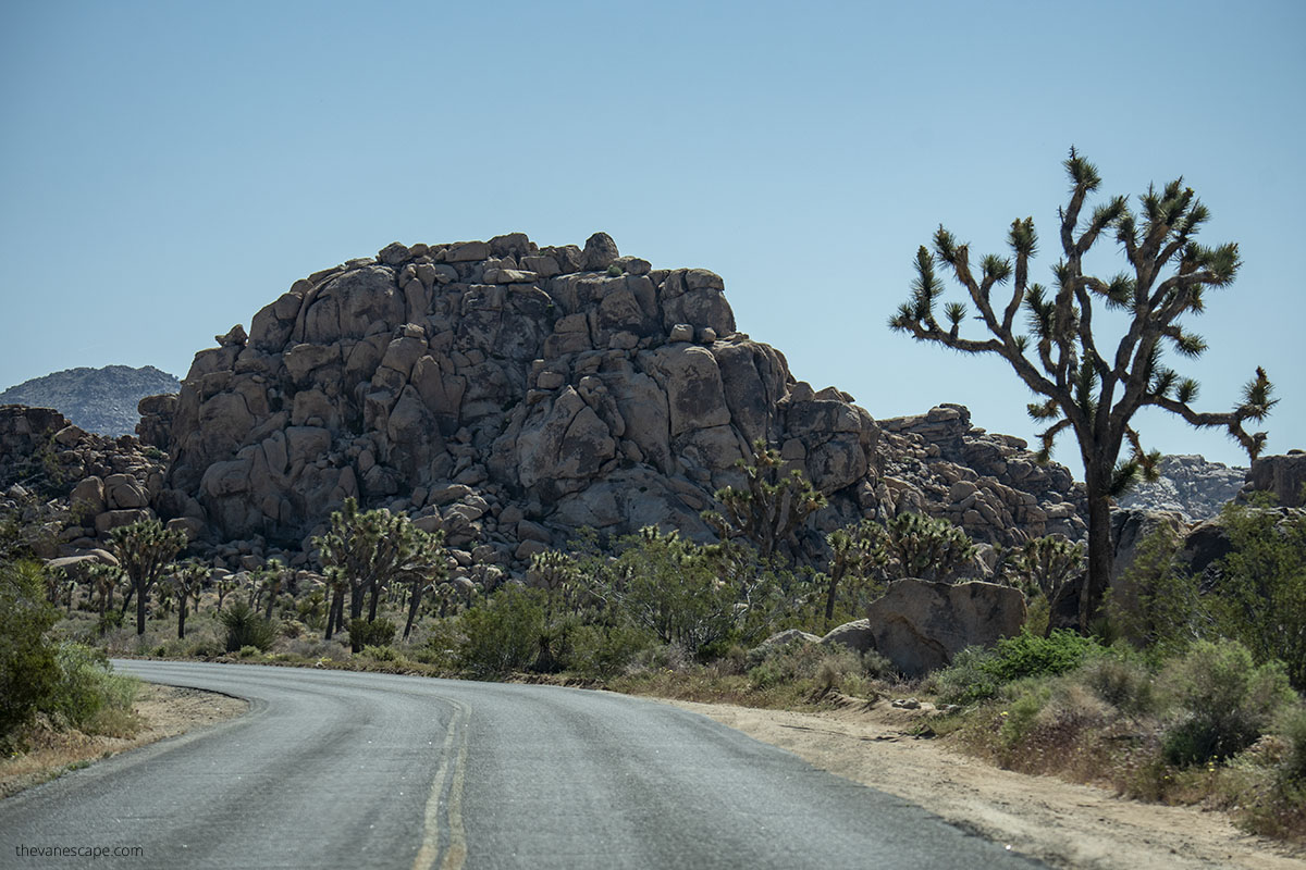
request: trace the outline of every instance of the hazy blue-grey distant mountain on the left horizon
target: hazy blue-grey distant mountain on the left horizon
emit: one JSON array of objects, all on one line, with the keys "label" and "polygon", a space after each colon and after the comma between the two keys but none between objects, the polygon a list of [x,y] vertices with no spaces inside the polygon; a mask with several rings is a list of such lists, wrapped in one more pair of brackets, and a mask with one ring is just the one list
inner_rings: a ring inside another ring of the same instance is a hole
[{"label": "hazy blue-grey distant mountain on the left horizon", "polygon": [[135,434],[141,419],[136,404],[146,395],[176,393],[182,383],[153,365],[133,369],[68,369],[25,381],[0,393],[0,404],[55,408],[86,432],[118,437]]}]

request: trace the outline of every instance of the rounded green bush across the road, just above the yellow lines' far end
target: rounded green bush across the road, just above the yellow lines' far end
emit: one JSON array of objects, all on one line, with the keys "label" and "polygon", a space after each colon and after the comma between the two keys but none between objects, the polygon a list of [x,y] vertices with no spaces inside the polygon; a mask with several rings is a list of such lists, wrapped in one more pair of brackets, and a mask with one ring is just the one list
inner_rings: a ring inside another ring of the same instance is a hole
[{"label": "rounded green bush across the road, just above the yellow lines' far end", "polygon": [[458,665],[490,677],[530,668],[545,633],[543,592],[507,586],[462,614]]}]

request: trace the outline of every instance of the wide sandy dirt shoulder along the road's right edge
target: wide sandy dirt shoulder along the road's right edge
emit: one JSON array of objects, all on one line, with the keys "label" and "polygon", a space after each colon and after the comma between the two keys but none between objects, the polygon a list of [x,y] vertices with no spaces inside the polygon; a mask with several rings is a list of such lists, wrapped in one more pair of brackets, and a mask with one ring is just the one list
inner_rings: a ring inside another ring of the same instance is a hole
[{"label": "wide sandy dirt shoulder along the road's right edge", "polygon": [[917,715],[887,702],[818,713],[666,703],[918,803],[1055,867],[1306,867],[1306,850],[1243,833],[1222,813],[1141,803],[1101,788],[1013,773],[914,738],[909,729]]}]

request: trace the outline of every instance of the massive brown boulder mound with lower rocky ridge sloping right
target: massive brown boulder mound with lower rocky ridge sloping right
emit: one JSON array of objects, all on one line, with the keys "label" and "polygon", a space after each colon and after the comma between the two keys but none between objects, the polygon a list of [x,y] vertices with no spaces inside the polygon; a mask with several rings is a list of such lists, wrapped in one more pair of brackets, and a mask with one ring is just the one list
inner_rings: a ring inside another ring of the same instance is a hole
[{"label": "massive brown boulder mound with lower rocky ridge sloping right", "polygon": [[708,540],[699,514],[759,438],[829,500],[808,556],[820,532],[908,510],[993,543],[1083,535],[1070,472],[1024,442],[960,406],[878,424],[737,331],[718,275],[603,233],[396,243],[310,275],[197,353],[142,437],[167,412],[161,513],[197,502],[209,540],[255,553],[300,549],[349,496],[512,571],[582,526]]}]

